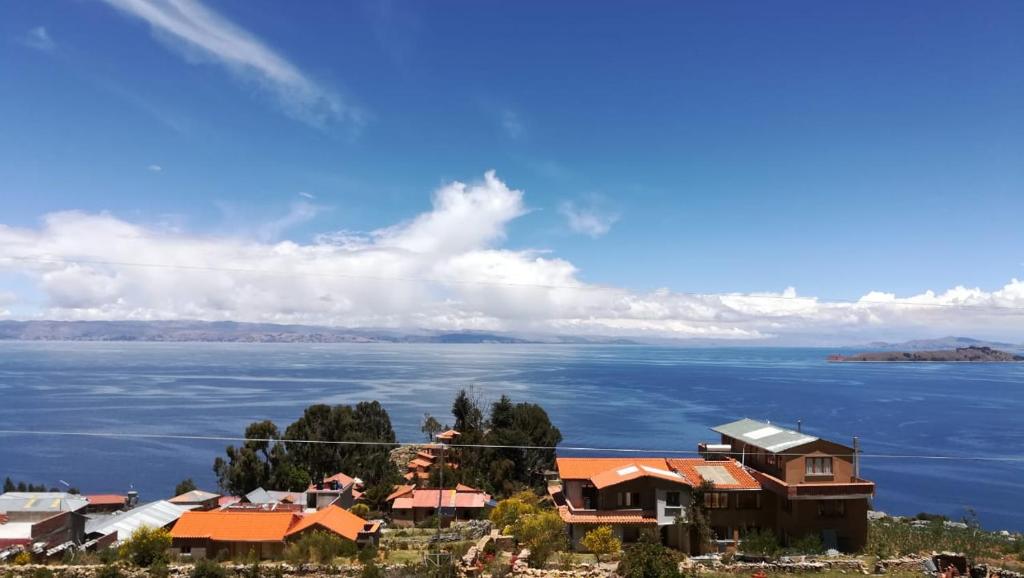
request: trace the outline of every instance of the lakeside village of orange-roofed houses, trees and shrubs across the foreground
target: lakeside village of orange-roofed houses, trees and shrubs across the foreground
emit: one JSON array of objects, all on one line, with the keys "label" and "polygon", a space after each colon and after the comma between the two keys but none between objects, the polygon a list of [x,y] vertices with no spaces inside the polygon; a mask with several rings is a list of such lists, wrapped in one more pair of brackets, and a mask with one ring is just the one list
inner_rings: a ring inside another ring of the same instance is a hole
[{"label": "lakeside village of orange-roofed houses, trees and shrubs across the foreground", "polygon": [[[289,431],[346,409],[313,406]],[[381,425],[377,411],[360,404],[352,415],[374,416]],[[428,416],[428,442],[388,447],[383,464],[381,451],[366,453],[349,462],[361,471],[333,471],[301,488],[295,463],[285,458],[287,442],[228,447],[228,460],[214,466],[220,492],[184,481],[178,495],[153,501],[134,491],[77,494],[8,480],[0,495],[0,562],[5,576],[15,578],[48,578],[51,568],[91,569],[102,578],[132,572],[204,578],[227,568],[249,576],[259,575],[261,565],[284,576],[319,568],[310,564],[359,576],[930,571],[951,577],[972,572],[969,565],[975,573],[987,568],[982,554],[1007,553],[1012,565],[1013,552],[1021,551],[1020,536],[1009,533],[870,511],[876,486],[860,477],[857,441],[821,439],[799,424],[744,418],[717,425],[714,442],[699,443],[692,456],[581,456],[556,455],[538,442],[545,427],[555,443],[561,438],[539,406],[503,398],[484,419],[464,391],[453,413],[465,430],[441,429]],[[524,426],[527,415],[547,425]],[[268,423],[250,426],[247,439],[257,438],[254,426],[274,438]],[[519,437],[516,427],[532,434]],[[383,438],[389,430],[388,422]],[[496,432],[509,442],[495,443]],[[330,451],[341,452],[331,459],[344,460],[356,450]],[[260,453],[266,462],[246,469]],[[383,471],[383,482],[360,478],[368,471]],[[287,487],[259,484],[269,480]],[[943,548],[957,555],[921,555]]]}]

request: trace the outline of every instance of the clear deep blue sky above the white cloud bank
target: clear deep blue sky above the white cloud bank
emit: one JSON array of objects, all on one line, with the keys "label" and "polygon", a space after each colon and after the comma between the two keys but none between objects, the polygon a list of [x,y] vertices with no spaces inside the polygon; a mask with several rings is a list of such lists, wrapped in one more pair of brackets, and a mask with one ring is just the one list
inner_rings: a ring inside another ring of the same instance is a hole
[{"label": "clear deep blue sky above the white cloud bank", "polygon": [[1018,2],[181,5],[243,45],[163,2],[4,5],[0,223],[309,244],[494,169],[523,206],[484,246],[626,291],[1024,277]]}]

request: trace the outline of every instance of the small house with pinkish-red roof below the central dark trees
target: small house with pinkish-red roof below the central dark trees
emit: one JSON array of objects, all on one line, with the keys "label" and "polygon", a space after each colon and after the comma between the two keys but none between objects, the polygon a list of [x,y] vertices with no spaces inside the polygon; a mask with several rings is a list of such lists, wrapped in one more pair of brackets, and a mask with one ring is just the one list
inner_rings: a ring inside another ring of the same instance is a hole
[{"label": "small house with pinkish-red roof below the central dark trees", "polygon": [[494,506],[488,494],[462,484],[445,490],[399,486],[387,500],[391,521],[398,528],[413,527],[429,520],[438,513],[438,505],[442,526],[450,525],[453,520],[481,518],[487,508]]}]

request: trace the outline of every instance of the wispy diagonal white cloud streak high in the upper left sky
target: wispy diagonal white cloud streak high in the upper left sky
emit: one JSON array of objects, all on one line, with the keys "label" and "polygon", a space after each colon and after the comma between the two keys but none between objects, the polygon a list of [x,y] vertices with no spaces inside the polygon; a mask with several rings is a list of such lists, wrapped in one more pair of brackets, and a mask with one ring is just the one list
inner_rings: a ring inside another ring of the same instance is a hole
[{"label": "wispy diagonal white cloud streak high in the upper left sky", "polygon": [[253,79],[303,122],[362,121],[362,114],[258,38],[204,6],[199,0],[104,0],[150,24],[158,39],[184,51],[190,61],[216,61]]}]

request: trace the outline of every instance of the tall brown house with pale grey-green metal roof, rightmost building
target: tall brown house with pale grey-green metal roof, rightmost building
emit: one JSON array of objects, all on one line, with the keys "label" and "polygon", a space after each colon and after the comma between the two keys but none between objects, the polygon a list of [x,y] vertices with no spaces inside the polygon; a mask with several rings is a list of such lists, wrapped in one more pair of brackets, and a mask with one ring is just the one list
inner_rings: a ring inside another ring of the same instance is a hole
[{"label": "tall brown house with pale grey-green metal roof, rightmost building", "polygon": [[[762,507],[783,544],[808,534],[826,548],[856,551],[867,539],[874,483],[860,478],[858,449],[767,421],[740,419],[712,428],[720,444],[705,456],[738,459],[764,489]],[[856,445],[856,441],[854,441]]]}]

